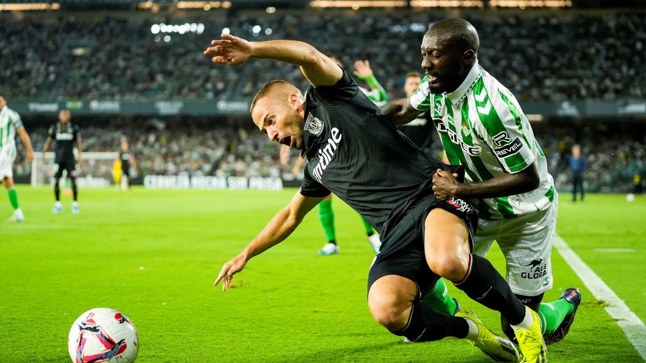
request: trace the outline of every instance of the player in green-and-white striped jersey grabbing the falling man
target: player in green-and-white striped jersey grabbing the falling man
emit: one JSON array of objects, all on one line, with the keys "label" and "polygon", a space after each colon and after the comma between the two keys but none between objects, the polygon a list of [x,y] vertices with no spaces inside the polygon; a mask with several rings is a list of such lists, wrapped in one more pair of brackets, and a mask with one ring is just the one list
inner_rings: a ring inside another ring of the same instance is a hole
[{"label": "player in green-and-white striped jersey grabbing the falling man", "polygon": [[[474,199],[479,216],[474,253],[485,256],[497,242],[512,291],[539,316],[545,339],[557,342],[581,302],[578,289],[569,288],[556,302],[541,304],[552,288],[558,194],[529,121],[514,95],[478,65],[478,48],[477,32],[467,21],[435,23],[422,41],[426,77],[421,87],[410,98],[386,105],[384,112],[401,124],[433,111],[448,159],[464,165],[467,182],[438,170],[435,196]],[[501,324],[514,340],[516,328],[505,316]]]}]

